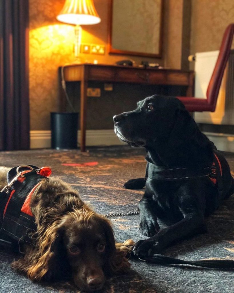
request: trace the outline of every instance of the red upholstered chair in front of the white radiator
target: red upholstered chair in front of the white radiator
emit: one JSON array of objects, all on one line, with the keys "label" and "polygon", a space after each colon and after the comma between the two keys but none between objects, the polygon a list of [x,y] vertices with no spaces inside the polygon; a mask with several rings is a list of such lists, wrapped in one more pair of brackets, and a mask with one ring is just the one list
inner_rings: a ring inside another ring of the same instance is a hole
[{"label": "red upholstered chair in front of the white radiator", "polygon": [[223,35],[218,59],[216,61],[214,71],[207,88],[207,98],[176,97],[184,103],[186,109],[189,112],[215,111],[224,69],[230,55],[233,34],[234,23],[231,23],[230,25],[228,25]]}]

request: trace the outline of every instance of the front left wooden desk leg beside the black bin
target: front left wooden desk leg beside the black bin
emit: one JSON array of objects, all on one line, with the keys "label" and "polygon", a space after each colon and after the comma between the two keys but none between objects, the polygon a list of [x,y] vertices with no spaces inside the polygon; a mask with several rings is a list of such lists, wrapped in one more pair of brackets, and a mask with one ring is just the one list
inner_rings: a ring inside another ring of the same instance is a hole
[{"label": "front left wooden desk leg beside the black bin", "polygon": [[84,78],[80,82],[80,150],[81,151],[85,151],[87,87],[88,87],[88,82]]}]

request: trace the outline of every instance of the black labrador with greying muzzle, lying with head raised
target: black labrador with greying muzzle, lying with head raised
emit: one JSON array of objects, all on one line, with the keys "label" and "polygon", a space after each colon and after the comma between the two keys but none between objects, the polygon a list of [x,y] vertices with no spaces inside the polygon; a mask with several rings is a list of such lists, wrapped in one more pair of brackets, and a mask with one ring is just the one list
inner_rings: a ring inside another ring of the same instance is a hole
[{"label": "black labrador with greying muzzle, lying with head raised", "polygon": [[150,238],[135,244],[136,255],[159,253],[175,241],[206,232],[204,218],[234,193],[234,180],[226,159],[183,103],[154,95],[113,120],[121,140],[147,150],[146,178],[124,185],[145,186],[138,203],[140,231]]}]

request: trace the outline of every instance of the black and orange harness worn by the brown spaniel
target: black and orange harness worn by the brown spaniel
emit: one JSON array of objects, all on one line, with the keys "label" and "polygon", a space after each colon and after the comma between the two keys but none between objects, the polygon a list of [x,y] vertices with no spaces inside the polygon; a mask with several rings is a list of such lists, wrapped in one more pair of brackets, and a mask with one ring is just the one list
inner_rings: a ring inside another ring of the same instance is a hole
[{"label": "black and orange harness worn by the brown spaniel", "polygon": [[37,227],[31,197],[50,174],[49,167],[39,169],[32,165],[14,167],[7,173],[8,185],[0,192],[0,244],[17,251],[20,244],[32,245],[29,234]]}]

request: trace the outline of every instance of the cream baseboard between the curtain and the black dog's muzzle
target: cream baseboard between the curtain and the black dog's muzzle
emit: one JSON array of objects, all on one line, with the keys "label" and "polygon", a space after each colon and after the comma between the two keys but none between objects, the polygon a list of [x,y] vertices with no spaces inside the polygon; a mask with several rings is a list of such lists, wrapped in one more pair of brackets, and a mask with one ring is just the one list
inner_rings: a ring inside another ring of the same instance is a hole
[{"label": "cream baseboard between the curtain and the black dog's muzzle", "polygon": [[[80,140],[80,131],[78,131],[78,144]],[[111,146],[123,145],[114,130],[86,130],[87,146]],[[31,130],[30,131],[30,149],[44,149],[51,147],[51,131],[50,130]]]}]

